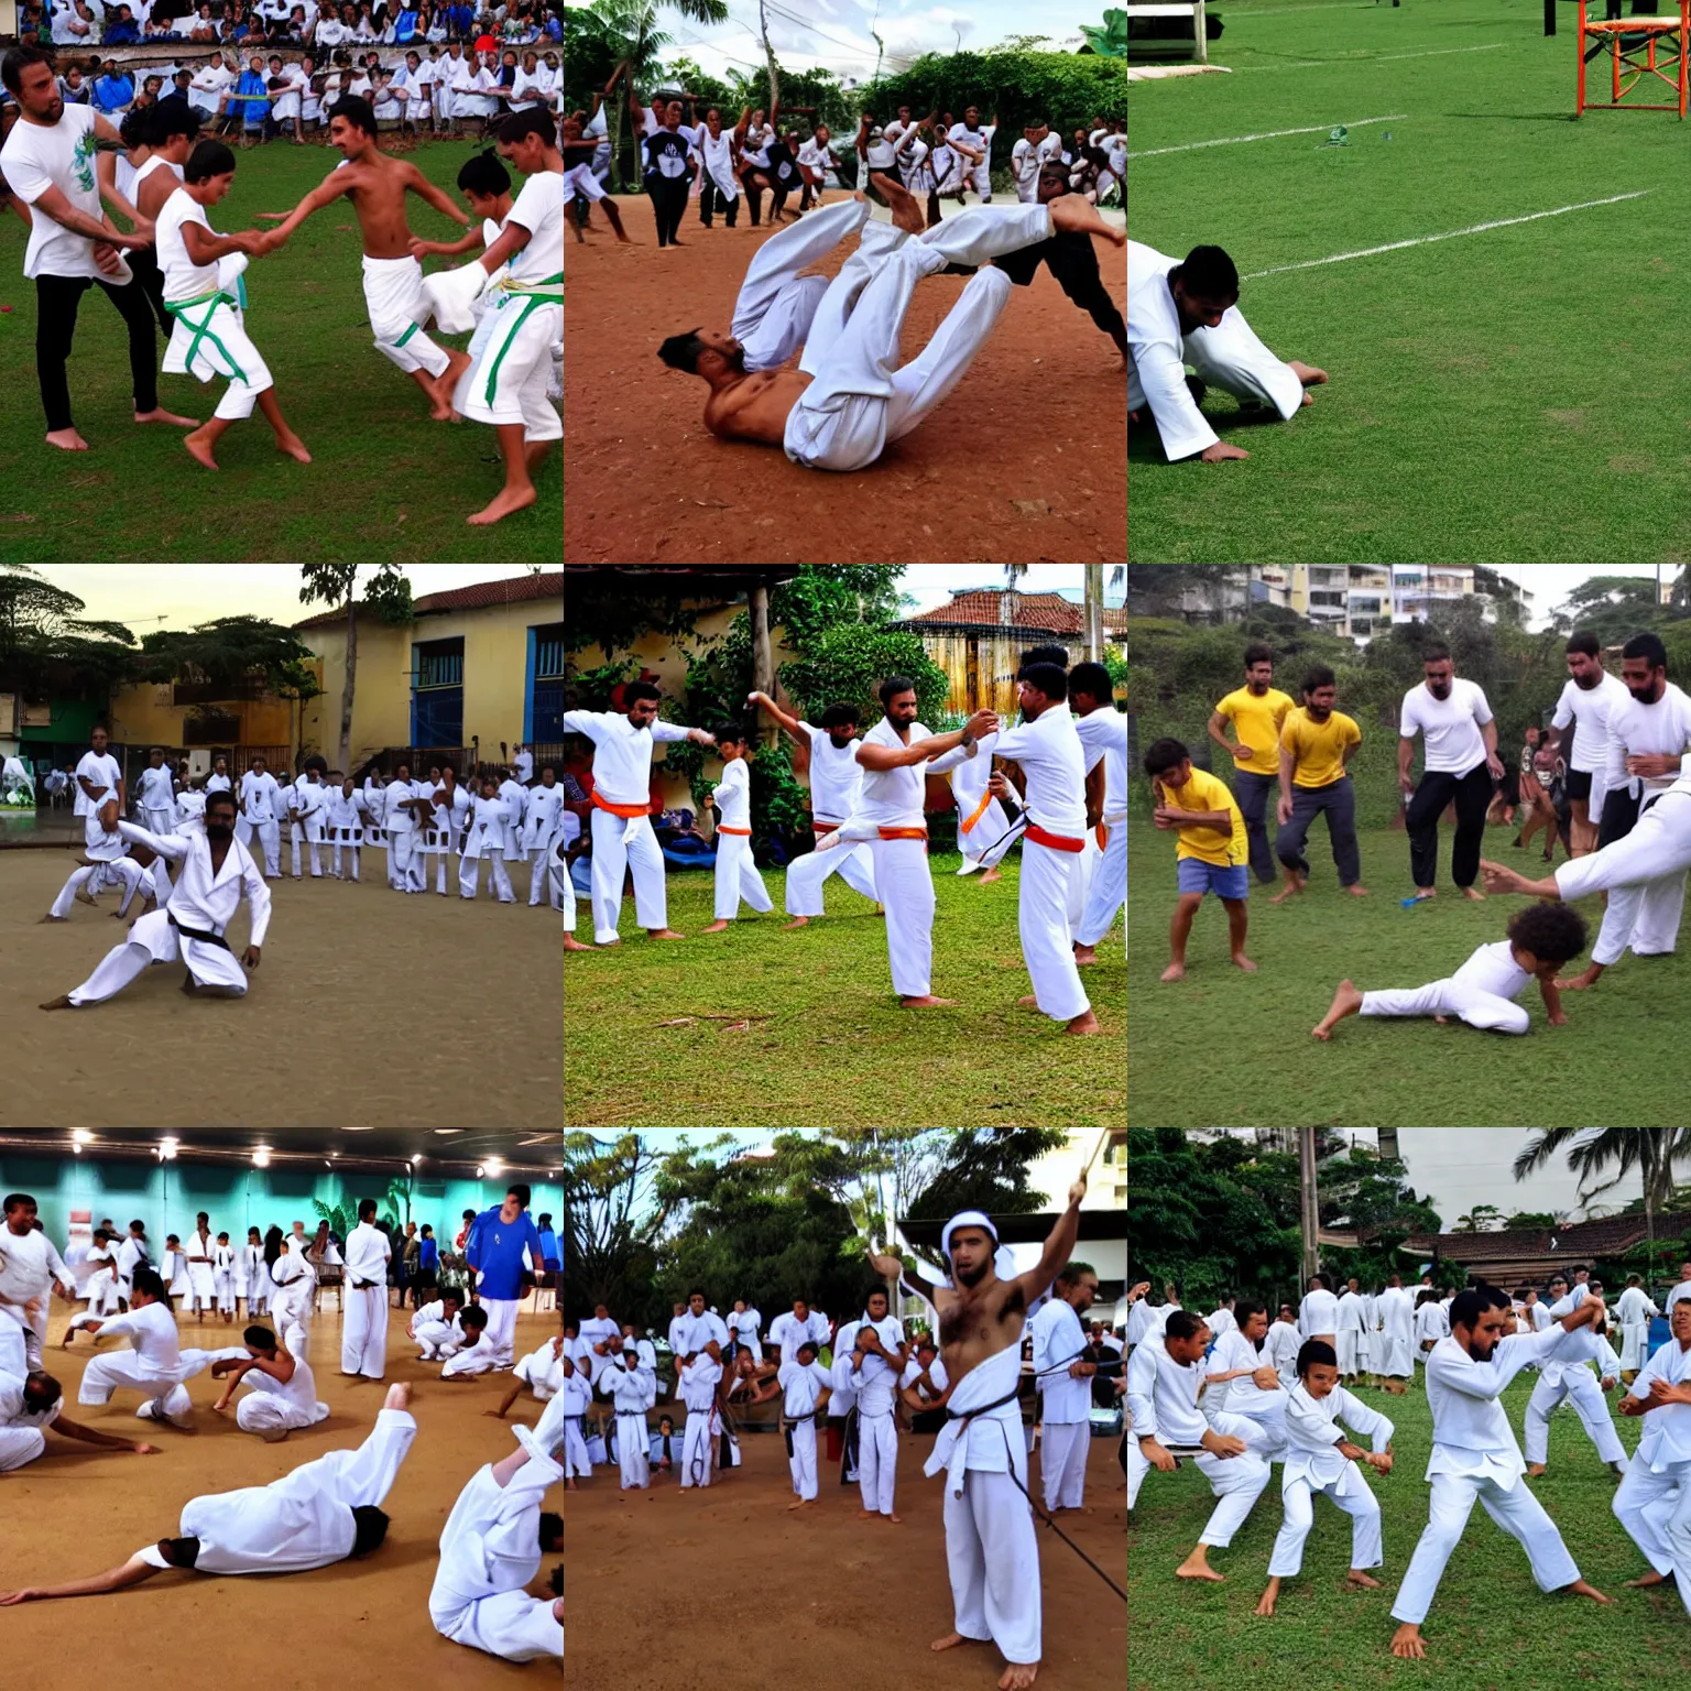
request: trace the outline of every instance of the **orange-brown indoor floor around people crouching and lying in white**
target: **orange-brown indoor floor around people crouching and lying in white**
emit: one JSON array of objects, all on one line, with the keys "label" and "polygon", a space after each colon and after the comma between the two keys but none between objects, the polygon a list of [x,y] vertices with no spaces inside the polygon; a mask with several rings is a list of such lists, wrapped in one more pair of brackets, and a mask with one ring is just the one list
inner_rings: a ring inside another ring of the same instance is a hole
[{"label": "orange-brown indoor floor around people crouching and lying in white", "polygon": [[[64,1390],[64,1414],[117,1437],[144,1439],[159,1456],[103,1451],[56,1439],[49,1454],[0,1476],[7,1530],[0,1535],[0,1590],[79,1579],[115,1568],[149,1541],[178,1532],[181,1507],[206,1491],[267,1485],[301,1463],[364,1441],[386,1387],[340,1375],[340,1316],[333,1295],[311,1333],[311,1370],[328,1420],[293,1432],[281,1444],[242,1432],[210,1405],[222,1382],[210,1373],[188,1382],[198,1431],[179,1432],[135,1419],[137,1397],[118,1392],[103,1409],[76,1404],[93,1341],[78,1334],[57,1349],[79,1305],[54,1297],[46,1368]],[[416,1442],[387,1495],[387,1541],[369,1557],[303,1574],[213,1578],[159,1574],[147,1584],[105,1596],[22,1603],[7,1608],[7,1684],[30,1691],[83,1691],[101,1679],[125,1691],[227,1691],[230,1686],[358,1683],[370,1691],[411,1686],[480,1688],[556,1684],[548,1662],[504,1662],[453,1644],[428,1618],[440,1532],[458,1491],[482,1463],[509,1454],[509,1424],[482,1415],[497,1405],[511,1375],[470,1385],[440,1380],[440,1366],[418,1361],[402,1316],[389,1312],[387,1382],[411,1383]],[[196,1326],[178,1316],[183,1346],[216,1349],[240,1343],[240,1322]],[[556,1316],[517,1317],[517,1354],[556,1333]],[[112,1341],[105,1349],[115,1349]],[[238,1395],[237,1388],[237,1395]],[[539,1419],[541,1405],[517,1398],[509,1420]],[[546,1507],[560,1505],[553,1488]],[[553,1557],[551,1561],[556,1561]],[[545,1595],[551,1562],[531,1588]]]}]

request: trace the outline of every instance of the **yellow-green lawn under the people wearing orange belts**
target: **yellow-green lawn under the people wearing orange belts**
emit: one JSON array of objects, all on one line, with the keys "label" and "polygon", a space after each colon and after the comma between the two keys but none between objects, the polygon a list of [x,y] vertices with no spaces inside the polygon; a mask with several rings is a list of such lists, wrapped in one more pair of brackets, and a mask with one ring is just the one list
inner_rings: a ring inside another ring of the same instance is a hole
[{"label": "yellow-green lawn under the people wearing orange belts", "polygon": [[[670,927],[648,940],[622,905],[622,945],[563,960],[563,1099],[572,1128],[617,1126],[1053,1126],[1121,1121],[1126,1030],[1121,923],[1081,971],[1103,1035],[1070,1038],[1016,999],[1032,991],[1016,937],[1015,854],[1003,881],[957,878],[932,859],[933,991],[955,1010],[900,1010],[886,923],[837,876],[829,915],[783,933],[786,874],[764,869],[768,917],[725,933],[712,920],[712,876],[670,876]],[[577,937],[592,939],[583,895]],[[678,1016],[766,1015],[668,1028]]]}]

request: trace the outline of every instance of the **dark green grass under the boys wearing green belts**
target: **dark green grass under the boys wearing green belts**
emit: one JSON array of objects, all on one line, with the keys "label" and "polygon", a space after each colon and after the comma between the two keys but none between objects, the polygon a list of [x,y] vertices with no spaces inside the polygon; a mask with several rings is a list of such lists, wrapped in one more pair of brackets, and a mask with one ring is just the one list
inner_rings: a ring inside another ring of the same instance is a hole
[{"label": "dark green grass under the boys wearing green belts", "polygon": [[[468,140],[440,142],[408,157],[462,203],[457,176],[473,150]],[[265,227],[255,225],[257,211],[293,210],[338,159],[333,147],[279,142],[237,152],[235,184],[211,208],[211,223],[223,232]],[[409,220],[428,238],[462,233],[414,194]],[[556,561],[558,453],[541,467],[539,501],[528,511],[490,528],[465,523],[504,480],[497,436],[480,423],[431,423],[416,382],[375,350],[348,203],[318,211],[281,252],[247,271],[247,328],[276,377],[282,414],[311,451],[309,465],[281,457],[257,413],[218,443],[216,473],[188,457],[183,430],[139,428],[123,321],[95,289],[83,299],[69,362],[76,426],[91,450],[47,446],[25,240],[24,225],[0,215],[0,306],[12,308],[0,313],[0,563]],[[463,260],[431,259],[426,267],[455,262]],[[159,402],[203,419],[223,386],[161,375]]]}]

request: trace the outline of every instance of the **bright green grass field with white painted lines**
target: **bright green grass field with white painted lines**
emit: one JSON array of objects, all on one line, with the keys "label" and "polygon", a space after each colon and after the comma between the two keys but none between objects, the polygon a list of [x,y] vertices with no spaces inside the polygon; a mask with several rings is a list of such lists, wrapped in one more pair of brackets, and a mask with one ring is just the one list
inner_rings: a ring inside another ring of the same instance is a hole
[{"label": "bright green grass field with white painted lines", "polygon": [[[1256,333],[1331,384],[1273,426],[1211,392],[1246,462],[1170,465],[1135,430],[1128,558],[1691,556],[1691,355],[1659,316],[1691,274],[1676,115],[1574,122],[1568,3],[1551,39],[1537,0],[1211,10],[1233,74],[1133,90],[1130,233],[1226,247]],[[1427,242],[1617,194],[1642,198]],[[1395,242],[1422,244],[1297,267]]]}]

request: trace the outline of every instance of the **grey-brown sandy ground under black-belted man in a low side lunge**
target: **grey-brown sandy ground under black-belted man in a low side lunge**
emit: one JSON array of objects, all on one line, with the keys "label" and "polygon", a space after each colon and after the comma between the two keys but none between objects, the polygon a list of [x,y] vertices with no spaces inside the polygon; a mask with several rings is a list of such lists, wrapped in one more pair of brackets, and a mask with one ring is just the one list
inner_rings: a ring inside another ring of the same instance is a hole
[{"label": "grey-brown sandy ground under black-belted man in a low side lunge", "polygon": [[[181,964],[86,1010],[37,1004],[81,984],[120,942],[118,893],[41,923],[71,851],[0,852],[0,1126],[543,1126],[563,1087],[558,913],[487,895],[406,898],[384,854],[364,879],[271,883],[271,932],[244,999],[186,998]],[[282,866],[289,866],[284,849]],[[372,873],[374,871],[374,873]],[[140,913],[140,900],[130,917]],[[247,906],[228,928],[247,949]],[[451,1081],[446,1084],[448,1069]]]}]

